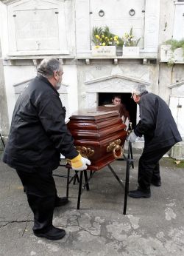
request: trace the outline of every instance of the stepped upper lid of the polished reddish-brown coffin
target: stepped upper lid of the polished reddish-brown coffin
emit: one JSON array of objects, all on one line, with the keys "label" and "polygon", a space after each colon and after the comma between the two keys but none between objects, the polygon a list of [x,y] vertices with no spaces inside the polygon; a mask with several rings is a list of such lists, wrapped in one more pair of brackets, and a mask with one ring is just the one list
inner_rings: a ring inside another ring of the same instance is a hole
[{"label": "stepped upper lid of the polished reddish-brown coffin", "polygon": [[78,142],[102,141],[124,130],[126,125],[122,123],[117,110],[109,109],[111,107],[102,106],[74,113],[67,124],[74,139]]}]

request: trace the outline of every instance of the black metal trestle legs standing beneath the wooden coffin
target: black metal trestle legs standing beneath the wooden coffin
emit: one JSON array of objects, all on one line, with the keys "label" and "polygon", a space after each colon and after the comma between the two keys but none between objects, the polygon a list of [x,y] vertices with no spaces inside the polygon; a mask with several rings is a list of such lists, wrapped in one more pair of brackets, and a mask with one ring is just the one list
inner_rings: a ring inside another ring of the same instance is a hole
[{"label": "black metal trestle legs standing beneath the wooden coffin", "polygon": [[[132,144],[131,144],[130,141],[128,142],[127,157],[126,157],[126,155],[124,155],[124,160],[127,162],[125,183],[123,183],[123,181],[121,181],[120,178],[118,178],[118,175],[114,171],[113,167],[110,166],[110,164],[108,164],[107,166],[109,167],[110,171],[113,173],[113,176],[116,178],[118,183],[124,188],[124,212],[123,213],[124,213],[124,215],[126,215],[126,212],[127,212],[127,195],[128,195],[128,191],[129,191],[130,167],[134,168],[134,160],[133,160],[133,156],[132,156]],[[66,196],[67,197],[68,197],[68,191],[69,191],[69,184],[71,183],[71,181],[74,181],[74,184],[75,184],[76,180],[79,182],[78,199],[77,199],[77,209],[79,209],[79,207],[80,207],[80,198],[81,198],[81,194],[82,194],[82,191],[83,191],[82,189],[86,188],[87,191],[89,190],[89,181],[91,180],[91,178],[93,178],[93,175],[95,174],[96,171],[91,171],[89,178],[88,178],[88,175],[87,175],[87,170],[75,171],[74,176],[71,177],[70,176],[71,166],[67,166],[67,165],[60,165],[60,166],[65,166],[68,169],[67,176],[66,175],[57,175],[57,174],[54,174],[54,176],[67,178],[67,186],[66,186]],[[84,177],[85,177],[85,184],[82,186],[83,173],[84,173]]]}]

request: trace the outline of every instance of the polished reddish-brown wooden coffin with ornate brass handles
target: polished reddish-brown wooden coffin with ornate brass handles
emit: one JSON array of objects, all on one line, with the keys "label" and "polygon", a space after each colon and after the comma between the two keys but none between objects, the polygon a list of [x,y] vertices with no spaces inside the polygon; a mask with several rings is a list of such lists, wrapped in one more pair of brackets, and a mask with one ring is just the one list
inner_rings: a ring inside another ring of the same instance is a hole
[{"label": "polished reddish-brown wooden coffin with ornate brass handles", "polygon": [[102,169],[121,157],[127,131],[117,110],[96,107],[76,112],[69,118],[67,127],[77,150],[90,159],[88,169]]}]

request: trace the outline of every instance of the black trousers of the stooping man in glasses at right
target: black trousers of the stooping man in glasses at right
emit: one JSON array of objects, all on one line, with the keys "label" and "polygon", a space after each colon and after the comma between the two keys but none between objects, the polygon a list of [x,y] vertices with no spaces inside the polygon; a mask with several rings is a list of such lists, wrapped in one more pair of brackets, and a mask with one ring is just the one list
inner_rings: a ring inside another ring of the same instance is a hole
[{"label": "black trousers of the stooping man in glasses at right", "polygon": [[157,149],[152,152],[143,150],[141,158],[138,162],[138,184],[141,189],[149,192],[152,181],[160,181],[159,160],[171,149],[171,146]]}]

